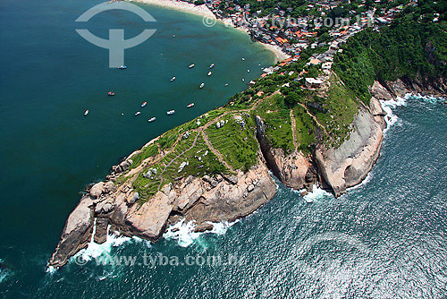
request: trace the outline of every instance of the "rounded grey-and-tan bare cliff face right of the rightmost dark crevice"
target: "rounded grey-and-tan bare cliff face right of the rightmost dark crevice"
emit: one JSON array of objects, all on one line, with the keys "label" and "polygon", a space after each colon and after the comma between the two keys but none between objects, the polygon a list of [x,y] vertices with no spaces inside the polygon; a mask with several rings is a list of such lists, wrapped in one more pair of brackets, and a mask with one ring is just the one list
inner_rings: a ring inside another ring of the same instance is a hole
[{"label": "rounded grey-and-tan bare cliff face right of the rightmost dark crevice", "polygon": [[362,106],[354,117],[349,139],[338,149],[326,149],[323,144],[317,146],[316,165],[335,196],[367,176],[379,156],[383,139],[381,124]]}]

